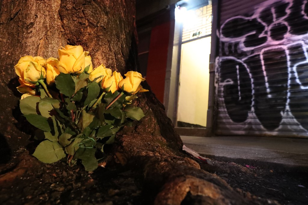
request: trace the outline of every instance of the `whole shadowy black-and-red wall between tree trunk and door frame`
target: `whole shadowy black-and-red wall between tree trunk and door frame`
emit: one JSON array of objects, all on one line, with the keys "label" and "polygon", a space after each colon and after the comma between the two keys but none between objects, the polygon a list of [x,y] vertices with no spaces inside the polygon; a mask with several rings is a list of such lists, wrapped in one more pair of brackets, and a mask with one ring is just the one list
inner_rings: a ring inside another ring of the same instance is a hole
[{"label": "whole shadowy black-and-red wall between tree trunk and door frame", "polygon": [[[174,29],[174,5],[137,21],[140,72],[152,92],[164,102],[170,31]],[[172,27],[172,28],[171,28]]]}]

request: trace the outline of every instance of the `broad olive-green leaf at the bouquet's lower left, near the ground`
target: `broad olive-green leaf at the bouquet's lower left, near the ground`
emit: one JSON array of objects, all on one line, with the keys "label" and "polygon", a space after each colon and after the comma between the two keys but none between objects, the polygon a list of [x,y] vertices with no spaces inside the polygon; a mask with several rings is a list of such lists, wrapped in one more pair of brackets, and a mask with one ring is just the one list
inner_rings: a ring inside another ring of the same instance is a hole
[{"label": "broad olive-green leaf at the bouquet's lower left, near the ground", "polygon": [[33,156],[43,163],[54,163],[66,155],[59,143],[45,140],[36,147]]}]

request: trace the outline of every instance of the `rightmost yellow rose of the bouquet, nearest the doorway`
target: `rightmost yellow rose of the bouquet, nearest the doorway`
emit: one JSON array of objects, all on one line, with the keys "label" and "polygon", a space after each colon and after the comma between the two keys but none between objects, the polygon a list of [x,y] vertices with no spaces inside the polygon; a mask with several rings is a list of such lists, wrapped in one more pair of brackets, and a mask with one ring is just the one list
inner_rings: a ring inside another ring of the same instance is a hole
[{"label": "rightmost yellow rose of the bouquet, nearest the doorway", "polygon": [[142,78],[142,75],[136,71],[129,71],[125,76],[126,78],[120,81],[119,87],[122,88],[122,86],[124,86],[124,91],[128,93],[136,92],[141,81],[145,80],[145,78]]}]

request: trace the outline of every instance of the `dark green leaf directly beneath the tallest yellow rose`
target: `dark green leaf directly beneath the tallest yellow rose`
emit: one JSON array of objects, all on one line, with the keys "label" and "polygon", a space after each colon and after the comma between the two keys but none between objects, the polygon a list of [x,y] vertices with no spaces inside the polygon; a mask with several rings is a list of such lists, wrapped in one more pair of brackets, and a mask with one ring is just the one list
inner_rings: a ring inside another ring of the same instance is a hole
[{"label": "dark green leaf directly beneath the tallest yellow rose", "polygon": [[55,78],[55,84],[60,93],[71,98],[75,93],[75,82],[70,74],[60,73]]}]

